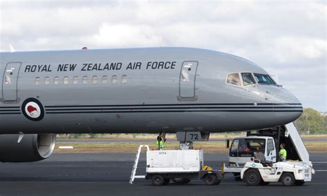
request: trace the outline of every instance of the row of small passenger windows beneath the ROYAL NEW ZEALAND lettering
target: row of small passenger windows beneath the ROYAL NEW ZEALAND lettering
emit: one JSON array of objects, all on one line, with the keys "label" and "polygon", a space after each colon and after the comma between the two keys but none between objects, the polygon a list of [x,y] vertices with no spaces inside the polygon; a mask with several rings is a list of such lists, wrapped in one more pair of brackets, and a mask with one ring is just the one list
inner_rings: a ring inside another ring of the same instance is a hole
[{"label": "row of small passenger windows beneath the ROYAL NEW ZEALAND lettering", "polygon": [[[61,83],[62,81],[62,83]],[[108,84],[109,79],[108,76],[103,75],[101,78],[98,77],[97,75],[93,76],[91,78],[91,81],[89,81],[88,76],[83,76],[83,77],[72,77],[72,79],[70,77],[63,77],[62,79],[60,79],[59,77],[54,77],[53,79],[51,79],[50,77],[45,77],[43,80],[40,77],[36,77],[34,80],[34,84],[35,85],[40,85],[40,84],[45,84],[45,85],[49,85],[49,84],[79,84],[79,82],[81,82],[82,84],[88,84],[89,82],[91,84]],[[111,77],[111,83],[112,84],[116,84],[118,82],[118,77],[117,75],[113,75]],[[126,83],[127,82],[127,76],[126,75],[122,75],[121,76],[121,83]]]}]

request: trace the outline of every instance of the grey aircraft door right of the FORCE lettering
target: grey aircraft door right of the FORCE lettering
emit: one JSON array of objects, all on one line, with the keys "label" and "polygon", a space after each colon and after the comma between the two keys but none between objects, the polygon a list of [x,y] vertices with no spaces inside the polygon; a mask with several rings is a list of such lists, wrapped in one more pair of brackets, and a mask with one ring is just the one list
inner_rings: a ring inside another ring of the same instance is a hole
[{"label": "grey aircraft door right of the FORCE lettering", "polygon": [[179,97],[195,97],[195,77],[197,74],[197,61],[184,61],[179,75]]}]

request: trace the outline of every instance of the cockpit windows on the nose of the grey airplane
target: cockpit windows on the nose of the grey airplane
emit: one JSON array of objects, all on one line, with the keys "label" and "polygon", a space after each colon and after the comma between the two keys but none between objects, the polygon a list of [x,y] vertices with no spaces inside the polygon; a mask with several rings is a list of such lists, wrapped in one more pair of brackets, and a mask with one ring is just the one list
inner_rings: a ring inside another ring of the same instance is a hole
[{"label": "cockpit windows on the nose of the grey airplane", "polygon": [[236,86],[247,86],[250,84],[268,84],[268,85],[277,85],[276,82],[269,76],[263,74],[257,74],[252,72],[235,72],[227,75],[226,83]]}]

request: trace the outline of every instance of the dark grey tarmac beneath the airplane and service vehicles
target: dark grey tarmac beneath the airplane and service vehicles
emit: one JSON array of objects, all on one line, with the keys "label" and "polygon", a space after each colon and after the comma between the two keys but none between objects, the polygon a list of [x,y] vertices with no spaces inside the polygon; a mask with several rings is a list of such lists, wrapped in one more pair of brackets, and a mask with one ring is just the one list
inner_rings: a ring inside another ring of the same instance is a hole
[{"label": "dark grey tarmac beneath the airplane and service vehicles", "polygon": [[[136,152],[135,152],[136,153]],[[1,163],[0,195],[327,195],[327,153],[311,153],[316,170],[312,182],[304,186],[246,186],[226,174],[218,186],[194,180],[180,186],[152,186],[150,180],[128,184],[135,153],[54,153],[33,163]],[[226,154],[204,155],[205,165],[220,167]],[[145,155],[141,155],[137,175],[145,175]]]}]

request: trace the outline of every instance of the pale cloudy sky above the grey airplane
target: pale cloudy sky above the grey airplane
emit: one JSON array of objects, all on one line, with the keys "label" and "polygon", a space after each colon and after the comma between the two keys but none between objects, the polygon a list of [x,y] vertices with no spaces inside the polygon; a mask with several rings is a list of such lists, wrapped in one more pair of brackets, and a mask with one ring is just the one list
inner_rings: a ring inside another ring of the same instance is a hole
[{"label": "pale cloudy sky above the grey airplane", "polygon": [[195,47],[257,63],[327,111],[326,1],[3,1],[0,52]]}]

